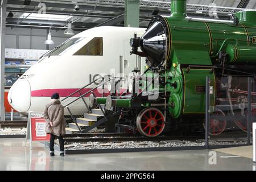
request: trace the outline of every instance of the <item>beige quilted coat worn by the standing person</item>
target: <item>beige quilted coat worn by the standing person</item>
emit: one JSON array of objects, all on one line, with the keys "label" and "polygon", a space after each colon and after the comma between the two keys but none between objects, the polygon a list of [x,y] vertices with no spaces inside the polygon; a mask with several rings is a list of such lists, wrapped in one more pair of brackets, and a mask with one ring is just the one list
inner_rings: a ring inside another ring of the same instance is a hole
[{"label": "beige quilted coat worn by the standing person", "polygon": [[[44,108],[44,119],[46,119],[46,133],[56,136],[65,135],[65,121],[63,106],[59,100],[52,101]],[[53,122],[53,126],[50,125]]]}]

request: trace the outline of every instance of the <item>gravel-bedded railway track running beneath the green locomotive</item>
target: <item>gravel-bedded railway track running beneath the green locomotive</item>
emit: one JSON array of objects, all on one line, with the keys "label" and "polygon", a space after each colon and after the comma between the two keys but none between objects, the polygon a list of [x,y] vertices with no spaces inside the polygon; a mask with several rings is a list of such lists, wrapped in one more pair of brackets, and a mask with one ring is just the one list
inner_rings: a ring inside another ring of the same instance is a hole
[{"label": "gravel-bedded railway track running beneath the green locomotive", "polygon": [[[127,133],[86,133],[65,135],[66,154],[204,149],[204,135],[142,137]],[[59,141],[56,140],[56,143]],[[245,144],[241,138],[214,138],[211,146]]]}]

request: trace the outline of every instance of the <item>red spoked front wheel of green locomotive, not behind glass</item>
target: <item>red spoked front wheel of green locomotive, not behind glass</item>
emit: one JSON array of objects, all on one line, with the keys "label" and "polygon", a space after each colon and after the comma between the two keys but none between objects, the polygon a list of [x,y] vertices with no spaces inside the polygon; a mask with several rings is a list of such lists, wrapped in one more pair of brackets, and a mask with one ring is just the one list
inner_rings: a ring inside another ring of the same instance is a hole
[{"label": "red spoked front wheel of green locomotive, not behind glass", "polygon": [[159,109],[149,107],[138,114],[136,125],[142,135],[156,137],[163,132],[166,124],[163,113]]}]

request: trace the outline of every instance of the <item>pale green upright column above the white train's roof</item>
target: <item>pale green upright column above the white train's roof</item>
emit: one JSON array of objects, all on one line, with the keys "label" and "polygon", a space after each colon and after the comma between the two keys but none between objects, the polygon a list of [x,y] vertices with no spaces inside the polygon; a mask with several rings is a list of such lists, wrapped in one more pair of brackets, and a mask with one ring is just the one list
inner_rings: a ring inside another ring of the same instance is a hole
[{"label": "pale green upright column above the white train's roof", "polygon": [[125,27],[139,27],[139,0],[125,0]]}]

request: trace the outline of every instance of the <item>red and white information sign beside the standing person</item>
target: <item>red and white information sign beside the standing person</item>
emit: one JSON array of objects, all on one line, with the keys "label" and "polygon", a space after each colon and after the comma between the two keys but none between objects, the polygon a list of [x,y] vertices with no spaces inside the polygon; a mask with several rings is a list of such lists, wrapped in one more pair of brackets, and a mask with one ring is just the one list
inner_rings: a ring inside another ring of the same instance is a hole
[{"label": "red and white information sign beside the standing person", "polygon": [[30,139],[34,141],[49,141],[51,135],[47,134],[46,120],[44,114],[40,112],[30,112]]}]

